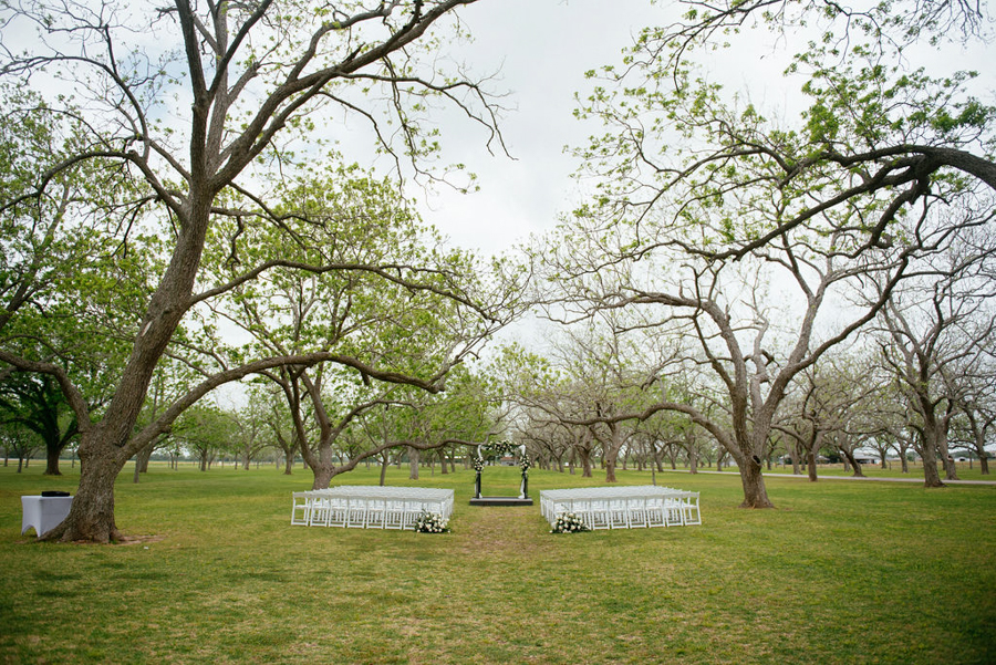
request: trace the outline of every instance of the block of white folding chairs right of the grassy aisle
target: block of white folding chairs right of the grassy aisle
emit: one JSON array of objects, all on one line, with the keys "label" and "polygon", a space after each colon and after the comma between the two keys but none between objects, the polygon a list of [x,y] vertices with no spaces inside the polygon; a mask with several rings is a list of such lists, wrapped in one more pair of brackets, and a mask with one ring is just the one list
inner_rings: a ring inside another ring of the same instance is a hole
[{"label": "block of white folding chairs right of the grassy aisle", "polygon": [[547,489],[540,492],[540,510],[551,526],[558,516],[573,513],[589,529],[702,523],[698,492],[656,485]]}]

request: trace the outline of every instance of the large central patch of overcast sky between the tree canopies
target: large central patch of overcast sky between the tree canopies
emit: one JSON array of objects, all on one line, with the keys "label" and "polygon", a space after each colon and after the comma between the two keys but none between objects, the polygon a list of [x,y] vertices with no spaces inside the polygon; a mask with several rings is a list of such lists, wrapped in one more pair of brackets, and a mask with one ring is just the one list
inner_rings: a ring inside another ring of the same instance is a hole
[{"label": "large central patch of overcast sky between the tree canopies", "polygon": [[572,116],[574,93],[587,91],[584,72],[618,62],[631,35],[671,14],[647,0],[490,0],[460,11],[475,42],[457,55],[509,96],[501,122],[509,153],[490,156],[484,134],[444,127],[448,163],[460,162],[479,176],[480,191],[459,195],[419,191],[424,219],[455,245],[494,253],[529,233],[550,229],[579,200],[570,174],[577,162],[566,145],[583,145],[598,125]]}]

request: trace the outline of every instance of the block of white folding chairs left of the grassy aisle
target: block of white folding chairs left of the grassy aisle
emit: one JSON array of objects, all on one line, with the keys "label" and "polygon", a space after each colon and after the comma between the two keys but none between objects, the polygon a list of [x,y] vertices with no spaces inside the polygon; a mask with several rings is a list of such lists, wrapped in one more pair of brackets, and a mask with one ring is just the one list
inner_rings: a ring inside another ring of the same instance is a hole
[{"label": "block of white folding chairs left of the grassy aisle", "polygon": [[309,527],[414,529],[423,512],[453,515],[453,490],[341,485],[293,492],[291,523]]}]

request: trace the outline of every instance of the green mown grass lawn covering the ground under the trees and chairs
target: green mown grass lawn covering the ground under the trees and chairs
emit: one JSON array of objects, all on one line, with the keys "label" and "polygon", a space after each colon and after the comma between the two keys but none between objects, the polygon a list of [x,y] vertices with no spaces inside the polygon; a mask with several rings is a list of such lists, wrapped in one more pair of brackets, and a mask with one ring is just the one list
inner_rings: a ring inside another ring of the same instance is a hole
[{"label": "green mown grass lawn covering the ground under the trees and chairs", "polygon": [[[471,471],[426,470],[457,497],[453,532],[429,536],[291,527],[300,469],[154,468],[116,495],[145,540],[65,545],[18,534],[19,497],[74,477],[13,470],[7,663],[996,662],[994,487],[769,478],[778,509],[746,511],[735,472],[667,474],[702,492],[701,527],[554,536],[538,506],[468,506]],[[530,474],[535,498],[601,482]],[[515,468],[485,472],[485,493],[517,487]]]}]

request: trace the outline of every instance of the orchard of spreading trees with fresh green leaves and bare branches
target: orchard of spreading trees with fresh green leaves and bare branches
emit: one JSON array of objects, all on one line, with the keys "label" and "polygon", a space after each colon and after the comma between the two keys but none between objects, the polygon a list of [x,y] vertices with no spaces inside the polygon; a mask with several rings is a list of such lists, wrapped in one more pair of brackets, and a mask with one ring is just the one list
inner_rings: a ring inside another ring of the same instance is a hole
[{"label": "orchard of spreading trees with fresh green leaves and bare branches", "polygon": [[[118,538],[114,479],[156,450],[300,457],[318,488],[504,437],[609,482],[733,464],[750,508],[775,459],[988,472],[996,108],[910,59],[987,39],[983,6],[683,2],[589,72],[590,200],[486,258],[408,194],[471,183],[436,114],[504,152],[445,58],[475,1],[0,9],[0,445],[81,463],[45,538]],[[798,114],[709,79],[756,32],[815,35]],[[548,344],[494,341],[530,311]]]}]

